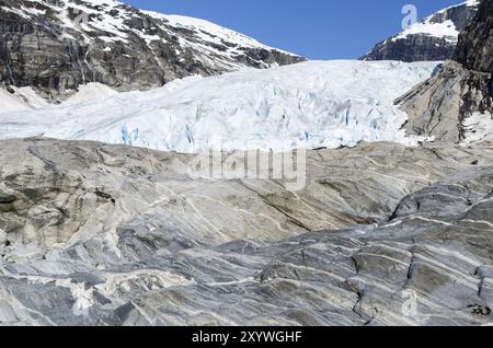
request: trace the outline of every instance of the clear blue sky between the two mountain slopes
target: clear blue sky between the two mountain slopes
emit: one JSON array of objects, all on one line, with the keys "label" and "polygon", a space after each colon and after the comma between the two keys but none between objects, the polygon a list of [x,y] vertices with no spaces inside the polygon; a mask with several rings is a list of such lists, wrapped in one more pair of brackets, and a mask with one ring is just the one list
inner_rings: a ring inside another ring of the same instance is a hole
[{"label": "clear blue sky between the two mountain slopes", "polygon": [[358,58],[401,31],[404,4],[424,18],[463,0],[123,0],[202,18],[310,59]]}]

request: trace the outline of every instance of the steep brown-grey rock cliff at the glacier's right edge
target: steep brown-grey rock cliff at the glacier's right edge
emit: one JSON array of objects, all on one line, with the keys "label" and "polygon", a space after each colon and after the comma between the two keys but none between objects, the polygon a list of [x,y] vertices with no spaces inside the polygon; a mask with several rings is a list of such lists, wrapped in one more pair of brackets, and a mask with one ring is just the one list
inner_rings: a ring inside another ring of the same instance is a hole
[{"label": "steep brown-grey rock cliff at the glacier's right edge", "polygon": [[493,3],[483,0],[472,24],[460,34],[457,61],[447,61],[435,77],[397,101],[409,115],[408,131],[459,142],[467,140],[465,123],[471,116],[481,115],[481,121],[490,125],[492,50]]}]

